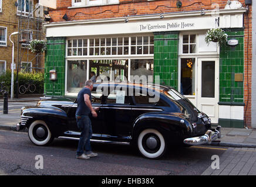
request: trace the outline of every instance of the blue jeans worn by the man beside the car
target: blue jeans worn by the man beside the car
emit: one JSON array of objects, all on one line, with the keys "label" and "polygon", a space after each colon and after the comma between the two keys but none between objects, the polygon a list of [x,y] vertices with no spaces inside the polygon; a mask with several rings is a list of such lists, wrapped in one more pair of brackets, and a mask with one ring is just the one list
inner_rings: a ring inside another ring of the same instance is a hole
[{"label": "blue jeans worn by the man beside the car", "polygon": [[87,153],[92,151],[92,148],[90,147],[90,138],[92,137],[92,123],[90,122],[89,116],[76,116],[76,122],[78,124],[78,129],[81,131],[78,150],[76,151],[76,155],[80,156],[84,153],[84,150]]}]

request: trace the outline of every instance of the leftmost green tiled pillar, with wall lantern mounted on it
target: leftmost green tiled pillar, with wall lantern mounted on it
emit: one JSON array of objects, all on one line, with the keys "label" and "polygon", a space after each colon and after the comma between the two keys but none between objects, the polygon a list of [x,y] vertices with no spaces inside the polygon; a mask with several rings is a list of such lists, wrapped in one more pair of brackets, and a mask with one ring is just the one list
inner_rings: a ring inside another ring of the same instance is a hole
[{"label": "leftmost green tiled pillar, with wall lantern mounted on it", "polygon": [[[45,94],[46,96],[65,95],[65,37],[48,37],[45,56]],[[49,79],[49,71],[56,70],[57,80]]]}]

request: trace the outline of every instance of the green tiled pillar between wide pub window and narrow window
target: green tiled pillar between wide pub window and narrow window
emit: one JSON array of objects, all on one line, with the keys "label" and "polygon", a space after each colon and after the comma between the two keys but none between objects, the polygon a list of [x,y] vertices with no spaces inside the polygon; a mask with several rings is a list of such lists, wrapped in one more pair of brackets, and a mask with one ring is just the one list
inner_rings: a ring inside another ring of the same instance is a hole
[{"label": "green tiled pillar between wide pub window and narrow window", "polygon": [[154,33],[154,76],[156,75],[159,75],[161,85],[178,89],[178,32]]}]

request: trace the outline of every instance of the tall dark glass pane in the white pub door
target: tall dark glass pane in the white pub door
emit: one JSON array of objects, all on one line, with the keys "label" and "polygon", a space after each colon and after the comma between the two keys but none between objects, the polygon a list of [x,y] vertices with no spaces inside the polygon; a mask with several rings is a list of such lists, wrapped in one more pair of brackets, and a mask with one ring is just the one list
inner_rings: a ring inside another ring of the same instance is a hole
[{"label": "tall dark glass pane in the white pub door", "polygon": [[202,98],[214,98],[215,61],[202,61]]}]

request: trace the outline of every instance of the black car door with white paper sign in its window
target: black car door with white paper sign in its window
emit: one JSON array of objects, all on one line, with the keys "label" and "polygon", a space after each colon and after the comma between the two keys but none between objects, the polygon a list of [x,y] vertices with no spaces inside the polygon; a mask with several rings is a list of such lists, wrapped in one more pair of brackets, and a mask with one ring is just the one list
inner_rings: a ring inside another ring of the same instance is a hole
[{"label": "black car door with white paper sign in its window", "polygon": [[111,141],[128,141],[132,130],[131,100],[126,91],[113,90],[105,96],[102,138]]}]

